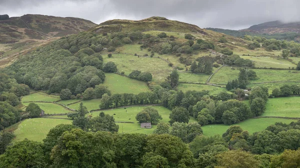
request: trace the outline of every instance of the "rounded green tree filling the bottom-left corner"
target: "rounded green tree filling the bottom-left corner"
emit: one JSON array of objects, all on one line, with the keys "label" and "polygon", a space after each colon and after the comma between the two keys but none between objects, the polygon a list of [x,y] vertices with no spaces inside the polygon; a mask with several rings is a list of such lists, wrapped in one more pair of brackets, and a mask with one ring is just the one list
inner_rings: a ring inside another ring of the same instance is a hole
[{"label": "rounded green tree filling the bottom-left corner", "polygon": [[42,144],[24,140],[16,142],[0,156],[1,168],[45,168]]}]

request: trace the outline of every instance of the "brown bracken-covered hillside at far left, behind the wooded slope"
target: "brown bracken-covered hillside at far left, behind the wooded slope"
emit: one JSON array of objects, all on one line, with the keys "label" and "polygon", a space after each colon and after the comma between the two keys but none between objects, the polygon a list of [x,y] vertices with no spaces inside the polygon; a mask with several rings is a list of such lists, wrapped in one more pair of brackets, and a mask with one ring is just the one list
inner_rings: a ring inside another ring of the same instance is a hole
[{"label": "brown bracken-covered hillside at far left, behind the wooded slope", "polygon": [[81,18],[39,14],[0,20],[0,68],[40,45],[68,34],[85,31],[95,25]]}]

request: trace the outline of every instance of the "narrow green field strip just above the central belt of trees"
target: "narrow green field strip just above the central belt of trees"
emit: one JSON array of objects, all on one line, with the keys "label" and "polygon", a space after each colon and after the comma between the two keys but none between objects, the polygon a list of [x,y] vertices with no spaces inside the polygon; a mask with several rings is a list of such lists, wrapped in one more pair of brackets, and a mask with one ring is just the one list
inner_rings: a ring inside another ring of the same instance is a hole
[{"label": "narrow green field strip just above the central belt of trees", "polygon": [[[177,87],[177,90],[182,90],[182,92],[186,92],[188,90],[196,90],[196,91],[202,91],[202,90],[208,90],[209,94],[218,94],[222,91],[226,91],[225,88],[220,88],[216,86],[210,86],[210,85],[199,85],[199,84],[186,84],[186,83],[180,83]],[[228,92],[229,93],[229,92]]]}]

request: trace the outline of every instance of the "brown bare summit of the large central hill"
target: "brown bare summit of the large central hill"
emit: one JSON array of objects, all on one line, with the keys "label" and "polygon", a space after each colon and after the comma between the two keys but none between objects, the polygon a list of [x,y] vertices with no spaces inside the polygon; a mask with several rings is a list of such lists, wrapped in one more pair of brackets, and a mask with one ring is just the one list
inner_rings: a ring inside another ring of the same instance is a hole
[{"label": "brown bare summit of the large central hill", "polygon": [[129,32],[129,31],[173,31],[173,32],[197,32],[205,34],[203,29],[196,25],[176,20],[168,20],[164,17],[153,16],[142,20],[113,19],[92,27],[90,31],[96,33]]}]

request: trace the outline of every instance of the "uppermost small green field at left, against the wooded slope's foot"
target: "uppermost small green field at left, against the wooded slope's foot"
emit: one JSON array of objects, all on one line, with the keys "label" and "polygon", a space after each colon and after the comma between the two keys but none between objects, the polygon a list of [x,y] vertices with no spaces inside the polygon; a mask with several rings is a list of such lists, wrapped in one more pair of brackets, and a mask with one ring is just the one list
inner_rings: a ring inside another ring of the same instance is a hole
[{"label": "uppermost small green field at left, against the wooded slope's foot", "polygon": [[29,102],[29,101],[53,102],[53,101],[57,101],[57,100],[60,100],[59,96],[47,95],[43,92],[29,94],[27,96],[23,96],[23,98],[22,98],[22,102]]}]

